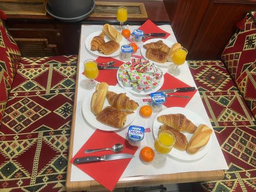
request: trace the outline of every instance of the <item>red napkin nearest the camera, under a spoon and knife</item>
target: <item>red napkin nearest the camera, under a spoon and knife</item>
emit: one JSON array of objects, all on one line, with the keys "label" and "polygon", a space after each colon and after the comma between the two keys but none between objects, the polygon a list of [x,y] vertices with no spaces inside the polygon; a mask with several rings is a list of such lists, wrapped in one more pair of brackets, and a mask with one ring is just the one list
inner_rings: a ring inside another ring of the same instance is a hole
[{"label": "red napkin nearest the camera, under a spoon and knife", "polygon": [[[84,143],[84,145],[80,148],[77,154],[72,158],[71,163],[74,164],[75,158],[114,154],[114,152],[112,151],[85,154],[84,150],[111,147],[115,143],[123,144],[123,151],[121,153],[134,155],[138,149],[137,146],[130,145],[126,139],[122,138],[115,132],[106,132],[97,129],[88,139],[88,141]],[[94,178],[104,187],[112,191],[130,161],[131,158],[74,165],[80,168],[84,173]]]}]

